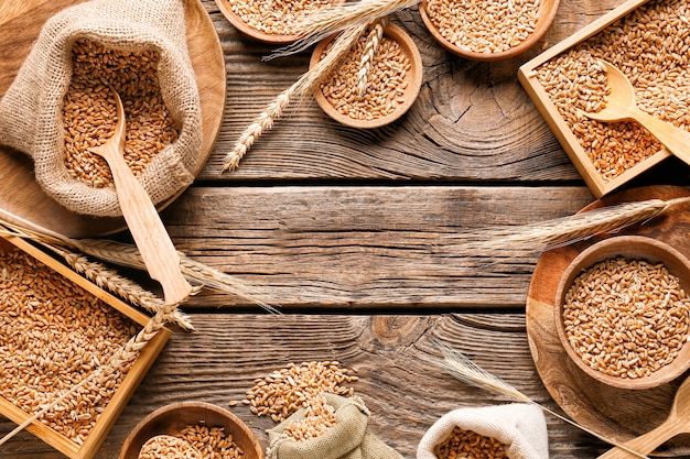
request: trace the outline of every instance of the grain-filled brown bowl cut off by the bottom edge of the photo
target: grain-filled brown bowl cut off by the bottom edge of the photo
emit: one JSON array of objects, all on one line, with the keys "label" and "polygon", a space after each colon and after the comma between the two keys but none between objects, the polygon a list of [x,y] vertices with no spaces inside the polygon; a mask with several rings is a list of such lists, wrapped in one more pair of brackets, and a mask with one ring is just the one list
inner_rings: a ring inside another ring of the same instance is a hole
[{"label": "grain-filled brown bowl cut off by the bottom edge of the photo", "polygon": [[157,442],[162,449],[177,448],[174,452],[181,453],[179,448],[182,442],[196,451],[202,448],[217,448],[218,451],[225,448],[226,455],[239,448],[241,455],[236,457],[263,459],[263,449],[247,424],[227,409],[205,402],[173,403],[152,412],[129,434],[119,459],[168,457],[162,456],[160,450],[158,453],[152,452],[152,445]]}]

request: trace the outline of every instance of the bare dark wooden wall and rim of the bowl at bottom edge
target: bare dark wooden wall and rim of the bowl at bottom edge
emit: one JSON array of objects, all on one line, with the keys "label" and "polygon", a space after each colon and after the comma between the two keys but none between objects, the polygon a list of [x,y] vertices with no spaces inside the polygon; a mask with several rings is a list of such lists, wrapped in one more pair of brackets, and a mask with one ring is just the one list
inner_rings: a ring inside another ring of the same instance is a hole
[{"label": "bare dark wooden wall and rim of the bowl at bottom edge", "polygon": [[263,448],[251,429],[237,416],[211,403],[181,402],[163,406],[144,417],[129,434],[119,459],[138,459],[141,447],[157,435],[174,435],[188,425],[224,427],[233,435],[246,459],[263,459]]}]

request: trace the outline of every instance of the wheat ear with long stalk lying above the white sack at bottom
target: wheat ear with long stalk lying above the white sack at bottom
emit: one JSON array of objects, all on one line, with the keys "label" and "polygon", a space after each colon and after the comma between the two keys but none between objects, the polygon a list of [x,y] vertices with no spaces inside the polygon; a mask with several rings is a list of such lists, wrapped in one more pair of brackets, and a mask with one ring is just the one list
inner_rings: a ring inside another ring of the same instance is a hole
[{"label": "wheat ear with long stalk lying above the white sack at bottom", "polygon": [[484,370],[482,367],[479,367],[478,364],[476,364],[475,362],[473,362],[470,358],[467,358],[465,354],[455,351],[454,349],[452,349],[450,346],[441,342],[438,338],[432,338],[432,341],[434,342],[434,345],[439,348],[439,350],[441,351],[441,353],[443,354],[443,360],[442,361],[433,361],[433,363],[435,363],[436,365],[439,365],[440,368],[442,368],[443,370],[445,370],[448,373],[450,373],[453,378],[455,378],[456,380],[472,385],[474,387],[478,387],[478,389],[483,389],[485,391],[489,391],[489,392],[494,392],[500,395],[505,395],[508,396],[510,398],[513,398],[516,402],[520,402],[520,403],[529,403],[532,404],[535,406],[538,406],[539,408],[541,408],[542,411],[545,411],[546,413],[549,413],[556,417],[558,417],[561,420],[564,420],[565,423],[590,434],[593,435],[594,437],[599,438],[602,441],[605,441],[612,446],[615,446],[617,448],[623,449],[624,451],[637,457],[637,458],[643,458],[643,459],[649,459],[647,456],[642,455],[628,447],[626,447],[625,445],[613,440],[611,438],[606,438],[597,433],[595,433],[592,429],[589,429],[584,426],[581,426],[580,424],[575,423],[574,420],[553,412],[552,409],[540,405],[539,403],[535,402],[533,400],[531,400],[530,397],[528,397],[527,395],[522,394],[520,391],[518,391],[517,389],[515,389],[514,386],[511,386],[510,384],[508,384],[507,382],[505,382],[504,380],[502,380],[500,378],[489,373],[488,371]]}]

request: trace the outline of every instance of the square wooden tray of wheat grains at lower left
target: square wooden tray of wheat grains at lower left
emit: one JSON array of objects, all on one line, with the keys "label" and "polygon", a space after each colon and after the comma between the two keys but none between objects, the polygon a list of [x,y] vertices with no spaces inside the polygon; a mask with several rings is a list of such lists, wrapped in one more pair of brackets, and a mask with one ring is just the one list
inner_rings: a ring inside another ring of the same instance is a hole
[{"label": "square wooden tray of wheat grains at lower left", "polygon": [[[18,425],[108,364],[149,320],[17,237],[0,238],[0,414]],[[132,363],[96,373],[26,429],[68,458],[93,458],[170,335],[161,329]]]}]

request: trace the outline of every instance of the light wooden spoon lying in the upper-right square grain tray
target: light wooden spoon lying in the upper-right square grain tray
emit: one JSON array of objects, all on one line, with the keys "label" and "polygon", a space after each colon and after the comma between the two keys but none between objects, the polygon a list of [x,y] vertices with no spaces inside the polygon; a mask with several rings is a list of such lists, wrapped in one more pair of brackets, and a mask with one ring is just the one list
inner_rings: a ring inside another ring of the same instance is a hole
[{"label": "light wooden spoon lying in the upper-right square grain tray", "polygon": [[608,62],[600,62],[606,66],[606,77],[611,88],[608,102],[601,111],[580,110],[580,112],[587,118],[603,122],[637,121],[670,153],[690,164],[690,132],[640,110],[635,102],[635,89],[625,74]]}]

